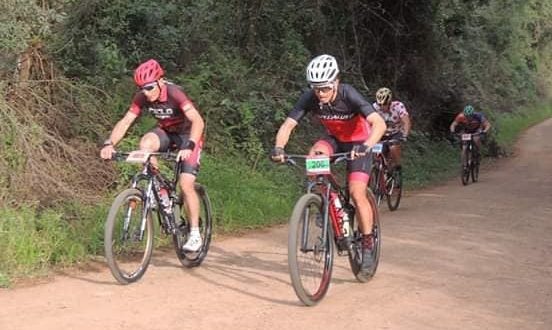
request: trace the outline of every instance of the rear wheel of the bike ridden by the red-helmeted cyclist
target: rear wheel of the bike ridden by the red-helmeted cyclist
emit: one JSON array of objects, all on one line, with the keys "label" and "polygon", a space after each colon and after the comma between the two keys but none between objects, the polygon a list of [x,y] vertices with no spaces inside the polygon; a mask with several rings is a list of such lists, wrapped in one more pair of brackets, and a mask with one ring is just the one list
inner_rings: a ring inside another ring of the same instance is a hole
[{"label": "rear wheel of the bike ridden by the red-helmeted cyclist", "polygon": [[[175,205],[174,214],[175,219],[177,220],[178,230],[173,234],[173,244],[176,251],[176,256],[180,263],[185,267],[197,267],[201,265],[211,244],[211,236],[213,231],[213,211],[211,208],[211,200],[207,194],[207,190],[204,186],[199,183],[195,184],[195,191],[199,197],[200,203],[200,216],[199,216],[199,231],[201,237],[203,238],[203,244],[197,252],[183,251],[181,247],[184,245],[188,239],[188,234],[190,231],[189,221],[187,219],[186,212],[180,208],[180,204]],[[180,196],[179,201],[182,201],[182,196]]]}]

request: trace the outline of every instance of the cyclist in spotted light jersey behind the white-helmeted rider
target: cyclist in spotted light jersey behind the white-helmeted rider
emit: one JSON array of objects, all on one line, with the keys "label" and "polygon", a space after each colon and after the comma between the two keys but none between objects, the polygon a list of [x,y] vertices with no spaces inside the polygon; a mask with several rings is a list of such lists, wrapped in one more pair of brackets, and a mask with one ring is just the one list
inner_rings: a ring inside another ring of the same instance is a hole
[{"label": "cyclist in spotted light jersey behind the white-helmeted rider", "polygon": [[[387,130],[381,138],[385,140],[406,141],[410,134],[410,115],[401,101],[393,101],[393,93],[387,87],[382,87],[376,92],[374,109],[383,117]],[[393,170],[401,165],[401,145],[394,144],[389,147],[389,168]]]}]

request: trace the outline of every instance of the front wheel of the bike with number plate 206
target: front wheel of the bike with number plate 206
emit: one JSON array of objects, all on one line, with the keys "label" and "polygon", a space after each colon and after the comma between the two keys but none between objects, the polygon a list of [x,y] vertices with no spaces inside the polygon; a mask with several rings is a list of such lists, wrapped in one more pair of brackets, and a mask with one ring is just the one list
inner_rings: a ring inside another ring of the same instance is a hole
[{"label": "front wheel of the bike with number plate 206", "polygon": [[[323,242],[323,214],[322,197],[308,193],[297,201],[289,221],[288,266],[291,284],[299,300],[307,306],[314,306],[324,298],[332,277],[333,231],[328,221],[327,238]],[[303,249],[304,245],[307,249]],[[307,278],[311,276],[312,279]]]}]

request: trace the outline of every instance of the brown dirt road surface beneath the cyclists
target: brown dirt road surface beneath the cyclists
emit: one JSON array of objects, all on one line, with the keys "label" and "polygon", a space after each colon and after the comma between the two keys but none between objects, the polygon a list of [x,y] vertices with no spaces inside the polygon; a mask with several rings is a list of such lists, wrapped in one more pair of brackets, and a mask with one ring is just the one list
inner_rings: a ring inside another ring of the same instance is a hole
[{"label": "brown dirt road surface beneath the cyclists", "polygon": [[[215,240],[205,263],[155,254],[135,284],[109,270],[0,290],[0,329],[551,329],[552,120],[517,156],[382,206],[376,277],[357,283],[336,257],[326,298],[290,286],[286,227]],[[290,210],[291,211],[291,210]]]}]

